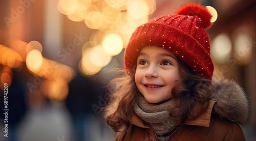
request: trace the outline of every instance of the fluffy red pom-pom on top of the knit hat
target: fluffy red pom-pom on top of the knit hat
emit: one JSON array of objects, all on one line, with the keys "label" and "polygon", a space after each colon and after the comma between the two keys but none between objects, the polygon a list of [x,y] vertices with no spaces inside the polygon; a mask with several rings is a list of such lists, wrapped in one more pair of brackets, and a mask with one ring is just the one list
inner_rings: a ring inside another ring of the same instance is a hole
[{"label": "fluffy red pom-pom on top of the knit hat", "polygon": [[189,3],[183,5],[176,12],[177,15],[189,15],[189,16],[198,16],[202,19],[203,29],[208,29],[212,23],[210,22],[212,15],[210,11],[203,5],[199,3]]}]

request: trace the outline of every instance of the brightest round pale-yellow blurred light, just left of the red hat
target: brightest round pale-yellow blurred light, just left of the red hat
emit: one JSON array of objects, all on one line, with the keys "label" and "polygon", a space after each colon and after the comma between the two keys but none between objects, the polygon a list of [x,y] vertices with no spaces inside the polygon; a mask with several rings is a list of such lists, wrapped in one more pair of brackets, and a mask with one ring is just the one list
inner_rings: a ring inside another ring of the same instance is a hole
[{"label": "brightest round pale-yellow blurred light, just left of the red hat", "polygon": [[119,54],[123,49],[123,40],[118,34],[109,34],[102,41],[103,49],[114,56]]}]

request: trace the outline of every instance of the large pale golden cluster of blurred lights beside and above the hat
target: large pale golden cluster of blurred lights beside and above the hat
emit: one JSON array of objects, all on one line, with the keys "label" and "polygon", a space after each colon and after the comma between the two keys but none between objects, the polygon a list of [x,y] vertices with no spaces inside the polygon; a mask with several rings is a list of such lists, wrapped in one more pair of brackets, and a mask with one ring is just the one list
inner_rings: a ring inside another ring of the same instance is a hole
[{"label": "large pale golden cluster of blurred lights beside and above the hat", "polygon": [[79,71],[90,76],[126,47],[136,27],[156,10],[155,0],[59,0],[57,8],[72,21],[96,30],[83,45]]}]

